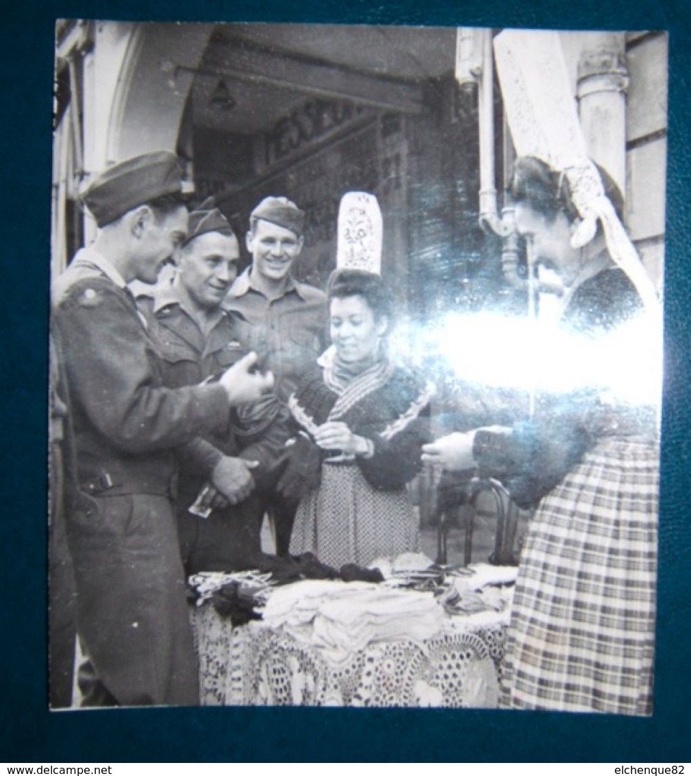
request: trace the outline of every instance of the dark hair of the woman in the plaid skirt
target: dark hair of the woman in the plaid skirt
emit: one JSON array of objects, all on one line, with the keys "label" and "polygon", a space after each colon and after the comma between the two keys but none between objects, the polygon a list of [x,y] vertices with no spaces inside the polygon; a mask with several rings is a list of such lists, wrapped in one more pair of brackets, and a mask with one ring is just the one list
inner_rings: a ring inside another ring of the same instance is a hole
[{"label": "dark hair of the woman in the plaid skirt", "polygon": [[[619,186],[606,170],[598,164],[595,166],[602,178],[605,195],[610,199],[614,210],[617,211],[617,216],[621,219],[624,212],[624,198]],[[513,203],[529,205],[549,222],[554,221],[560,212],[565,213],[569,221],[579,217],[566,176],[533,156],[517,158],[506,193]]]}]

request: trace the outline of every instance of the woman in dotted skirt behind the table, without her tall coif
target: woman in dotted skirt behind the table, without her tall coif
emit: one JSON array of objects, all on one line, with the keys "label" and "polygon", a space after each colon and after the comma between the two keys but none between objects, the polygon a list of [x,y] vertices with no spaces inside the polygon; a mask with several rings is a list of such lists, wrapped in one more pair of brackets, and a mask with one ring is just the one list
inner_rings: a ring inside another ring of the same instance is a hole
[{"label": "woman in dotted skirt behind the table, without her tall coif", "polygon": [[379,275],[336,270],[330,348],[289,406],[299,430],[278,489],[300,497],[290,551],[330,566],[366,566],[420,549],[406,483],[429,439],[432,386],[394,365],[392,298]]}]

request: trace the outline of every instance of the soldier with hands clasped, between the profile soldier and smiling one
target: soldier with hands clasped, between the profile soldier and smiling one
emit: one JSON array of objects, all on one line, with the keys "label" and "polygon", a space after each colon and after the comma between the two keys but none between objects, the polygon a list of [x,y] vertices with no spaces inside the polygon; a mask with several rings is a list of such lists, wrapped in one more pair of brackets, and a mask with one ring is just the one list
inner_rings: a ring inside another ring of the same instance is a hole
[{"label": "soldier with hands clasped, between the profile soldier and smiling one", "polygon": [[[149,331],[163,356],[164,383],[197,385],[222,372],[247,349],[240,341],[238,314],[222,309],[237,276],[240,245],[230,223],[207,200],[189,215],[188,235],[173,255],[172,282],[140,296]],[[274,394],[237,407],[206,440],[232,457],[237,489],[224,503],[204,477],[181,461],[178,487],[178,539],[188,574],[257,568],[261,556],[260,493],[288,439],[288,412]],[[202,518],[193,508],[199,493]],[[226,491],[226,496],[229,494]]]}]

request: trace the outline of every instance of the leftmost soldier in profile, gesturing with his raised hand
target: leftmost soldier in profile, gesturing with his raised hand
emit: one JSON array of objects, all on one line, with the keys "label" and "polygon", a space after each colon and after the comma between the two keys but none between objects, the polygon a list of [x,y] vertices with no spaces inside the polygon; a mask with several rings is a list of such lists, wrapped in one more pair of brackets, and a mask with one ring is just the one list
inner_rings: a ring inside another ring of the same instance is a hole
[{"label": "leftmost soldier in profile, gesturing with his raised hand", "polygon": [[83,195],[98,224],[54,286],[78,483],[92,508],[67,515],[88,660],[82,705],[196,705],[198,668],[175,532],[175,450],[223,493],[228,458],[199,434],[257,400],[271,375],[248,354],[212,385],[164,386],[157,344],[127,284],[153,283],[187,237],[178,159],[156,151],[99,175]]}]

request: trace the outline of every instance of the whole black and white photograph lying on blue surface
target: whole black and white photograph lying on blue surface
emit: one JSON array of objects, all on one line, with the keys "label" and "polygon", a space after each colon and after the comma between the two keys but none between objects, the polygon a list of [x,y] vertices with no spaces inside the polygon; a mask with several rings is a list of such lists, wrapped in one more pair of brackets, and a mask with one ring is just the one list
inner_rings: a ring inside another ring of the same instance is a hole
[{"label": "whole black and white photograph lying on blue surface", "polygon": [[57,21],[52,712],[653,714],[667,78],[656,29]]}]

